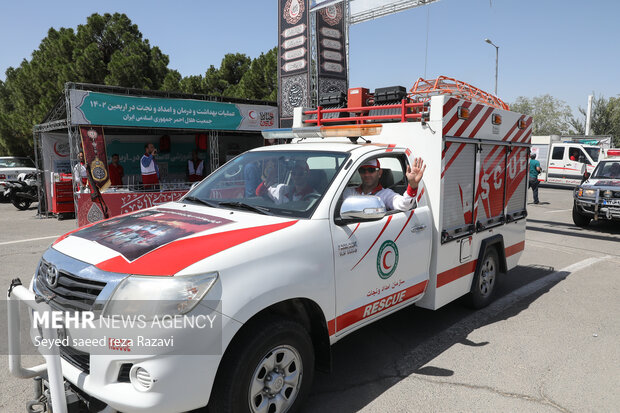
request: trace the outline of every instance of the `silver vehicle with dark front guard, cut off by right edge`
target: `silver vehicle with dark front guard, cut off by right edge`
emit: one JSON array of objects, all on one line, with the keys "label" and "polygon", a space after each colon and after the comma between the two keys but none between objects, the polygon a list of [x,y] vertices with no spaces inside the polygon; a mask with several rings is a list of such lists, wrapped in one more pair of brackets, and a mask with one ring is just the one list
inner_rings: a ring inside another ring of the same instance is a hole
[{"label": "silver vehicle with dark front guard, cut off by right edge", "polygon": [[585,180],[574,190],[573,222],[586,227],[590,221],[620,221],[620,157],[599,162],[584,174]]}]

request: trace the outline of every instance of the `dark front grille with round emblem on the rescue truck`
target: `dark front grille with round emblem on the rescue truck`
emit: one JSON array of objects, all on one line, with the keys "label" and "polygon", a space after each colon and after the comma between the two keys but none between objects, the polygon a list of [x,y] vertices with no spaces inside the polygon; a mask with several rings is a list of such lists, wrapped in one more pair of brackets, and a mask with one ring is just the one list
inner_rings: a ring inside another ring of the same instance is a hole
[{"label": "dark front grille with round emblem on the rescue truck", "polygon": [[47,275],[52,264],[41,261],[36,277],[36,287],[43,295],[53,296],[50,305],[64,311],[89,311],[106,283],[89,280],[59,270],[57,282],[51,285]]}]

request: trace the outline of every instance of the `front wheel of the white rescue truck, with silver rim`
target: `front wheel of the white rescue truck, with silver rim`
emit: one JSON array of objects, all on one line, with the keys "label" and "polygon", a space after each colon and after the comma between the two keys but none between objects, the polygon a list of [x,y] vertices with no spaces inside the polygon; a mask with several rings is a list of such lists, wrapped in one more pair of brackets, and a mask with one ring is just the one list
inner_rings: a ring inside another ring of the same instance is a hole
[{"label": "front wheel of the white rescue truck, with silver rim", "polygon": [[[278,365],[278,360],[285,361],[284,357],[293,361]],[[270,360],[275,360],[274,370],[265,369]],[[292,385],[295,374],[298,381]],[[224,354],[211,391],[209,412],[257,411],[250,403],[267,403],[265,411],[270,413],[295,412],[308,396],[313,377],[314,348],[303,326],[275,317],[246,325]],[[251,392],[255,393],[253,397]]]}]

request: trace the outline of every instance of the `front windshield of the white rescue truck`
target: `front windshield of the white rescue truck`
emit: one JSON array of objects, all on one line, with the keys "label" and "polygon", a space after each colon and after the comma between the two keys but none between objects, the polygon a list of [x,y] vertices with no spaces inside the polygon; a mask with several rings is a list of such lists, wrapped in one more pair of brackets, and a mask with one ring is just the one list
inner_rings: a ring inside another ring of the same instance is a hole
[{"label": "front windshield of the white rescue truck", "polygon": [[246,152],[207,177],[182,202],[307,218],[348,157],[322,151]]}]

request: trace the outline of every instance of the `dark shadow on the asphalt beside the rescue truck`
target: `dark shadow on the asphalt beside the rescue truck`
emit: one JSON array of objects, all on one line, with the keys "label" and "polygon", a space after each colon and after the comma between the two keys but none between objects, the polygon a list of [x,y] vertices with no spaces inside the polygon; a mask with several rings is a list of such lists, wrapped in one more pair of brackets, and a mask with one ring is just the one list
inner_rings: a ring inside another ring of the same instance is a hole
[{"label": "dark shadow on the asphalt beside the rescue truck", "polygon": [[[549,267],[517,266],[501,280],[497,299],[553,272],[554,269]],[[498,314],[474,316],[464,322],[465,318],[475,315],[476,310],[457,300],[437,311],[408,307],[352,333],[333,346],[332,372],[317,372],[302,411],[323,412],[337,408],[339,413],[356,412],[412,374],[452,376],[454,372],[451,370],[425,365],[457,343],[487,345],[486,342],[472,342],[467,337],[480,327],[518,315],[567,275],[555,278],[545,288]],[[359,386],[365,386],[364,391],[356,392],[356,397],[347,397],[347,402],[340,399],[337,407],[326,405],[330,396],[337,397],[339,393]]]}]

